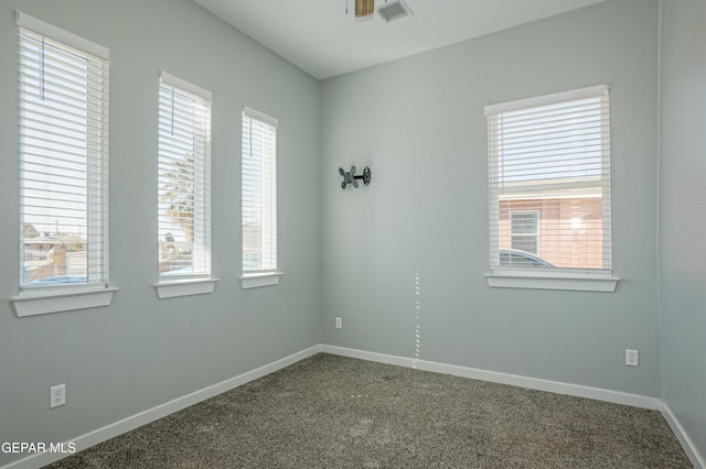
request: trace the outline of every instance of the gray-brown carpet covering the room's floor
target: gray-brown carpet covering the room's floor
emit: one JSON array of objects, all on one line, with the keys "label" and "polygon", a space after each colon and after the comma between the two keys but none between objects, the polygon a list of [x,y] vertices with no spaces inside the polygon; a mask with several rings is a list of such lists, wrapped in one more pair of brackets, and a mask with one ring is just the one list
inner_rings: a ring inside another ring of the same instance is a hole
[{"label": "gray-brown carpet covering the room's floor", "polygon": [[691,468],[659,412],[317,355],[49,468]]}]

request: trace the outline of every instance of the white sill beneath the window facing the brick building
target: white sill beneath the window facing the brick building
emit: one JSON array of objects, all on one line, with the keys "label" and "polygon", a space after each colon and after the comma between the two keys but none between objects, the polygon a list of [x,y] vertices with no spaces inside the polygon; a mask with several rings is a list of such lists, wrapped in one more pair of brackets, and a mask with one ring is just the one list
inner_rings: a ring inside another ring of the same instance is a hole
[{"label": "white sill beneath the window facing the brick building", "polygon": [[609,275],[560,275],[548,272],[494,272],[485,274],[488,286],[496,288],[570,290],[612,293],[620,279]]}]

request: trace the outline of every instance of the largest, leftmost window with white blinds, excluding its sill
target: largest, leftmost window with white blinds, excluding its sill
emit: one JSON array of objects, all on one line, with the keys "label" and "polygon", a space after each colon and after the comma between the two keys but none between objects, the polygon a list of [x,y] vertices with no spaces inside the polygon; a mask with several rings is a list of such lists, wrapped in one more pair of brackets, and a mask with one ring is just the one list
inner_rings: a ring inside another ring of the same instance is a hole
[{"label": "largest, leftmost window with white blinds, excluding its sill", "polygon": [[20,290],[108,282],[108,50],[18,12]]}]

